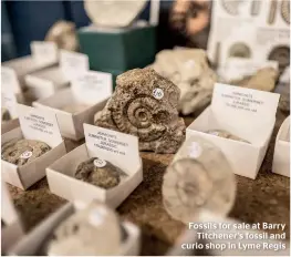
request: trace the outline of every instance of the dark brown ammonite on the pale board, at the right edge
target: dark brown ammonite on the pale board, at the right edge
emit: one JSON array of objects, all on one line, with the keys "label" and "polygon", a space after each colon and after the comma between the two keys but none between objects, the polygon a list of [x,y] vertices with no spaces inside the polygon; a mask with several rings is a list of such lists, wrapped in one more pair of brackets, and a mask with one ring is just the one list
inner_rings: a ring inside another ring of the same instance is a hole
[{"label": "dark brown ammonite on the pale board, at the right edge", "polygon": [[277,61],[279,63],[279,71],[283,72],[284,69],[290,65],[290,48],[287,45],[279,45],[272,49],[268,59]]}]

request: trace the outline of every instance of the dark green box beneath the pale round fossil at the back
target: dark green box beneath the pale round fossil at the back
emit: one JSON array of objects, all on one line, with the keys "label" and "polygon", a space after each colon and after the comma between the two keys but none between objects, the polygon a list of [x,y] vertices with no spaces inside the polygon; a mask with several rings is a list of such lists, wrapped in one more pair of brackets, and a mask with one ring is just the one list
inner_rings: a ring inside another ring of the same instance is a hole
[{"label": "dark green box beneath the pale round fossil at the back", "polygon": [[77,35],[91,70],[127,71],[155,60],[156,27],[153,25],[107,30],[87,27],[80,29]]}]

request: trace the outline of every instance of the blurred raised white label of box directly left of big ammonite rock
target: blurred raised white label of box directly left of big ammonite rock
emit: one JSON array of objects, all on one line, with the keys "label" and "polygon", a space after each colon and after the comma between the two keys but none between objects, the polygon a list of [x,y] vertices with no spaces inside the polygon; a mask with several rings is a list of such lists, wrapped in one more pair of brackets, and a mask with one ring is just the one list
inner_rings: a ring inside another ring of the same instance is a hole
[{"label": "blurred raised white label of box directly left of big ammonite rock", "polygon": [[83,103],[100,103],[112,95],[112,74],[87,71],[72,81],[74,96]]}]

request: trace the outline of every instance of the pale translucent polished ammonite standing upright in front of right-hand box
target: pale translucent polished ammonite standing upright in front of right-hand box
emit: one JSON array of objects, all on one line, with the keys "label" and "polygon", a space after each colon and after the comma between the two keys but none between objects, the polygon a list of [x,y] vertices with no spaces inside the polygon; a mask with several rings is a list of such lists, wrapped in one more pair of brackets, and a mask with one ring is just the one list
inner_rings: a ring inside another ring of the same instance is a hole
[{"label": "pale translucent polished ammonite standing upright in front of right-hand box", "polygon": [[187,224],[200,210],[227,215],[235,203],[236,181],[218,147],[200,137],[190,137],[167,167],[162,192],[167,213]]}]

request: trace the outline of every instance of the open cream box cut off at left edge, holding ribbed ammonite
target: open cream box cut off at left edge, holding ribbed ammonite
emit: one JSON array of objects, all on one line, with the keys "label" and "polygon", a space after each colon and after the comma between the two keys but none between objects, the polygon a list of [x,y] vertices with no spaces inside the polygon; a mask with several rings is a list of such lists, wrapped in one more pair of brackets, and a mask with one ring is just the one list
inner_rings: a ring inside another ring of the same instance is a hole
[{"label": "open cream box cut off at left edge, holding ribbed ammonite", "polygon": [[1,136],[2,144],[11,140],[37,140],[46,143],[51,150],[35,161],[17,166],[1,160],[2,179],[21,189],[27,189],[45,176],[45,168],[66,153],[53,113],[25,105],[18,106],[20,127]]}]

